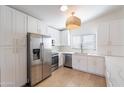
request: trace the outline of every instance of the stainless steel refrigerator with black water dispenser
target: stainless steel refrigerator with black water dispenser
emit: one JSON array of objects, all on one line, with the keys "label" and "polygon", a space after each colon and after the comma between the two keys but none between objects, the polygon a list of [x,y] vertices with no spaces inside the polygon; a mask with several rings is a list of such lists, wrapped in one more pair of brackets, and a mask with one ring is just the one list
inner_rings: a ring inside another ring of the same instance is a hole
[{"label": "stainless steel refrigerator with black water dispenser", "polygon": [[51,75],[52,41],[49,36],[27,34],[28,84],[34,86]]}]

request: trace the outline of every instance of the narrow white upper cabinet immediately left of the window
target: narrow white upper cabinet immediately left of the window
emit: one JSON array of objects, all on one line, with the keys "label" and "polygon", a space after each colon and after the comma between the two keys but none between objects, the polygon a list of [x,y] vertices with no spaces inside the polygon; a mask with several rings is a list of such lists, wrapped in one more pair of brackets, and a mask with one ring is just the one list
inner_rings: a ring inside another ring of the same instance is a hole
[{"label": "narrow white upper cabinet immediately left of the window", "polygon": [[60,45],[69,46],[70,45],[70,34],[68,30],[60,32]]}]

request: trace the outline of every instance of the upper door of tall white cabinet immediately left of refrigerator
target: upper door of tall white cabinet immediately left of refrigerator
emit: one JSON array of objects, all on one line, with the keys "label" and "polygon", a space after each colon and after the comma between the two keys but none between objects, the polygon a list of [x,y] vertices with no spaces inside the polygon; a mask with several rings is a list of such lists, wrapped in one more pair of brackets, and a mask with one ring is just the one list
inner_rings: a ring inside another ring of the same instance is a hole
[{"label": "upper door of tall white cabinet immediately left of refrigerator", "polygon": [[16,47],[18,46],[26,46],[26,19],[27,16],[21,12],[14,12],[14,30],[15,30],[15,43]]}]

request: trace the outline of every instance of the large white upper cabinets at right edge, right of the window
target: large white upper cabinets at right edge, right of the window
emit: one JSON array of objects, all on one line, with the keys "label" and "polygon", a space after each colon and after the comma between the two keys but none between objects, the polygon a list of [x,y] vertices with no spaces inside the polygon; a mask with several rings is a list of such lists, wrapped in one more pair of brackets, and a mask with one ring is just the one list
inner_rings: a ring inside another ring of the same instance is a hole
[{"label": "large white upper cabinets at right edge, right of the window", "polygon": [[124,56],[124,20],[114,20],[99,25],[97,53],[100,55]]}]

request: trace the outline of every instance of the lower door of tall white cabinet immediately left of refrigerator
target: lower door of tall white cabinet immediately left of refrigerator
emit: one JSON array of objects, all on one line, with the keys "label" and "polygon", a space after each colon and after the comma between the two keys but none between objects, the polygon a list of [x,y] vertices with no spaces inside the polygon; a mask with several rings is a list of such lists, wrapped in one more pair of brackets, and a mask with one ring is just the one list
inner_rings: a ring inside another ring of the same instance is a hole
[{"label": "lower door of tall white cabinet immediately left of refrigerator", "polygon": [[26,47],[18,47],[15,63],[16,86],[23,86],[27,83],[27,55]]}]

